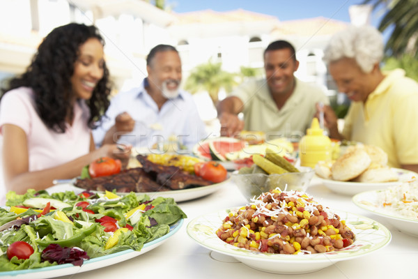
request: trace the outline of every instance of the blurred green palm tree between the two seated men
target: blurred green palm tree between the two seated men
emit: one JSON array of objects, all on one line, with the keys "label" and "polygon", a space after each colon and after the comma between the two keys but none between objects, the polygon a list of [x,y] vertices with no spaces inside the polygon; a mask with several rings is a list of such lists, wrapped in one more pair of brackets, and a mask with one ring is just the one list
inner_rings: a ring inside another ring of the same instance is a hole
[{"label": "blurred green palm tree between the two seated men", "polygon": [[222,63],[208,63],[196,66],[185,82],[185,90],[190,93],[197,91],[208,91],[213,104],[218,103],[218,93],[220,89],[230,92],[235,82],[235,74],[222,70]]}]

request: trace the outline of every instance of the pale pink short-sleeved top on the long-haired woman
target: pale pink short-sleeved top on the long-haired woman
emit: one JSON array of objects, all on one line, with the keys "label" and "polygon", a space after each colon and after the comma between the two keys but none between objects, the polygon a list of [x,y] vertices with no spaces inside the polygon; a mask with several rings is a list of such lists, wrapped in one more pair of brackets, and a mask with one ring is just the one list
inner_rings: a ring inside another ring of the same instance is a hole
[{"label": "pale pink short-sleeved top on the long-haired woman", "polygon": [[3,124],[13,124],[24,130],[28,142],[30,172],[56,167],[89,152],[89,114],[86,104],[77,102],[72,126],[67,125],[65,133],[56,133],[45,126],[36,112],[33,91],[28,87],[20,87],[1,98],[0,134]]}]

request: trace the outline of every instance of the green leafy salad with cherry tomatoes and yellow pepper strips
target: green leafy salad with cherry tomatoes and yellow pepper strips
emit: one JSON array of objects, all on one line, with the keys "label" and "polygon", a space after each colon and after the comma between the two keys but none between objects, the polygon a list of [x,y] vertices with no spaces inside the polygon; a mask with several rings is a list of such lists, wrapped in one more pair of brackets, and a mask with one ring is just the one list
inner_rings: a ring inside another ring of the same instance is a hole
[{"label": "green leafy salad with cherry tomatoes and yellow pepper strips", "polygon": [[182,218],[187,216],[172,198],[10,191],[0,208],[0,271],[81,266],[85,259],[139,251]]}]

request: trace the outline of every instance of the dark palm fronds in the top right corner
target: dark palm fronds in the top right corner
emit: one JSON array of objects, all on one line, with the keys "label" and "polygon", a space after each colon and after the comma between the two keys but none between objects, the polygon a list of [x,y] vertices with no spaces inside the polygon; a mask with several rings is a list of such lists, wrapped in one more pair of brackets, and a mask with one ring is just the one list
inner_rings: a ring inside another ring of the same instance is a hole
[{"label": "dark palm fronds in the top right corner", "polygon": [[386,43],[387,56],[401,58],[410,54],[418,59],[418,0],[364,0],[373,10],[385,7],[379,30],[393,29]]}]

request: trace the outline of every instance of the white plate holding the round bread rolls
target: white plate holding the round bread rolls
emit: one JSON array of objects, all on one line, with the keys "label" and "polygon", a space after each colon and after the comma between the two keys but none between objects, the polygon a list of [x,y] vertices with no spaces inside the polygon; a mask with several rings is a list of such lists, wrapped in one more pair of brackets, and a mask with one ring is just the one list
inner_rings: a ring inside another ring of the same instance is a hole
[{"label": "white plate holding the round bread rolls", "polygon": [[332,190],[332,192],[343,194],[343,195],[355,195],[369,190],[380,190],[385,189],[390,186],[396,186],[401,184],[403,181],[409,181],[412,179],[412,176],[418,177],[416,172],[411,172],[406,169],[396,169],[392,167],[398,177],[399,181],[394,182],[382,182],[382,183],[364,183],[364,182],[350,182],[350,181],[335,181],[331,179],[319,179],[324,183],[324,185]]}]

